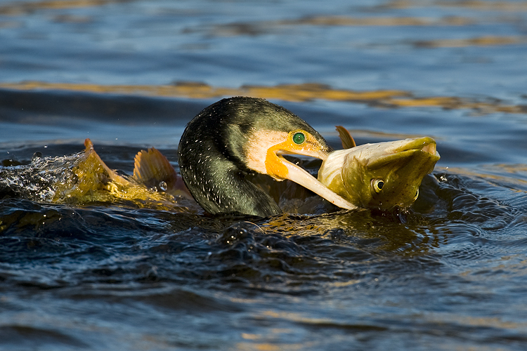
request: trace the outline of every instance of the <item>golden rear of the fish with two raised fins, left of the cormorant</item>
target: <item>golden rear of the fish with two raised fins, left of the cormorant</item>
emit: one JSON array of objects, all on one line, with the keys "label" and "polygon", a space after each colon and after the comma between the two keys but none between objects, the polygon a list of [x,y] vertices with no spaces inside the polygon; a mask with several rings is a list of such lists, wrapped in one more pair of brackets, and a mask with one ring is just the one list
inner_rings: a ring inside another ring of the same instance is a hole
[{"label": "golden rear of the fish with two raised fins, left of the cormorant", "polygon": [[131,201],[139,207],[178,212],[197,207],[181,176],[155,147],[136,154],[132,176],[109,168],[90,139],[84,147],[84,155],[70,170],[72,176],[55,183],[53,202]]}]

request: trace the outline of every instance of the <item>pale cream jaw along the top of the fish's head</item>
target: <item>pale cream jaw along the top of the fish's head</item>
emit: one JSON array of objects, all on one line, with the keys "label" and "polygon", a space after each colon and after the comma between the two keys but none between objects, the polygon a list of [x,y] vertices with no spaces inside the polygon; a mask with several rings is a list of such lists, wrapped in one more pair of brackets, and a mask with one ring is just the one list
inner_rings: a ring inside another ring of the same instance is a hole
[{"label": "pale cream jaw along the top of the fish's head", "polygon": [[390,162],[403,162],[415,156],[428,159],[434,164],[441,158],[437,152],[436,140],[430,137],[360,146],[365,146],[364,153],[367,154],[365,166],[369,169],[379,168]]}]

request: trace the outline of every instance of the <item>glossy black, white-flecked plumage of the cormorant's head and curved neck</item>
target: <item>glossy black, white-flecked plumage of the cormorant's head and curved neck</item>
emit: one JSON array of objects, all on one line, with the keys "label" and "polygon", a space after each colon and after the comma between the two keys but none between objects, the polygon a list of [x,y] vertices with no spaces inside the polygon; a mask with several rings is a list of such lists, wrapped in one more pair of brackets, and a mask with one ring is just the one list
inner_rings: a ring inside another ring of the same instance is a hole
[{"label": "glossy black, white-flecked plumage of the cormorant's head and curved neck", "polygon": [[259,98],[220,100],[186,126],[178,147],[181,176],[197,203],[209,213],[263,217],[281,213],[268,194],[245,178],[255,173],[248,166],[247,155],[264,141],[255,140],[264,137],[258,131],[284,135],[297,130],[311,134],[323,150],[330,150],[317,131],[283,107]]}]

